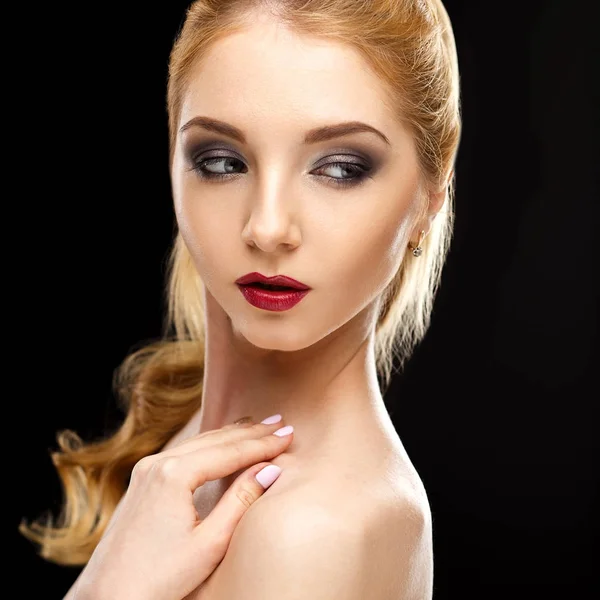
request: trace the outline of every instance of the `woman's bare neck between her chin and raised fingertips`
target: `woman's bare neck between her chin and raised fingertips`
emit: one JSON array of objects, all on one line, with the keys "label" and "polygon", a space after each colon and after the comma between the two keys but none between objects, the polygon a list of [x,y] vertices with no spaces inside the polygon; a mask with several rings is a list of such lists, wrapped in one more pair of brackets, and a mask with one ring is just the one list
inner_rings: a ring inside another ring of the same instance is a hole
[{"label": "woman's bare neck between her chin and raised fingertips", "polygon": [[328,440],[339,442],[339,432],[361,424],[391,426],[375,368],[374,306],[293,351],[250,343],[208,290],[205,309],[202,407],[193,417],[199,433],[244,416],[258,423],[280,413],[294,426],[293,447],[302,455],[322,450]]}]

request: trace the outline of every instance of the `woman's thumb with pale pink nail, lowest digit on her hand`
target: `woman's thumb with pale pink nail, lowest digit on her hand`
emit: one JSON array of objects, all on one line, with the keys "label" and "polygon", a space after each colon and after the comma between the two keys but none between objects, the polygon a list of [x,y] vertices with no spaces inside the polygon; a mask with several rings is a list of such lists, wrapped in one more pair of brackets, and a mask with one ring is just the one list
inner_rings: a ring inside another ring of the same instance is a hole
[{"label": "woman's thumb with pale pink nail, lowest digit on her hand", "polygon": [[[259,473],[266,487],[256,479]],[[245,512],[280,474],[281,468],[270,463],[263,462],[249,468],[233,482],[210,514],[197,526],[194,535],[202,545],[200,548],[202,556],[210,557],[211,561],[211,564],[203,564],[203,568],[207,570],[207,577],[225,556],[233,532]]]}]

